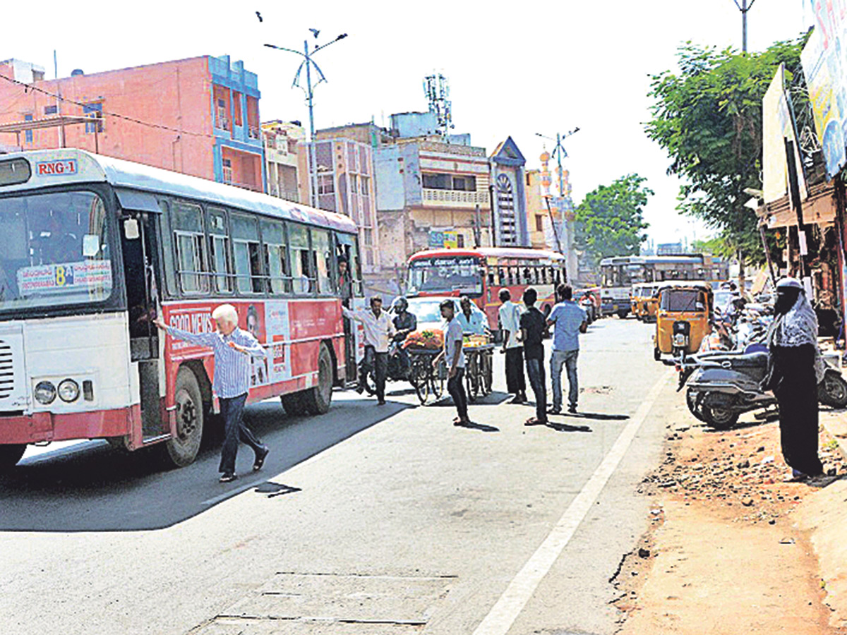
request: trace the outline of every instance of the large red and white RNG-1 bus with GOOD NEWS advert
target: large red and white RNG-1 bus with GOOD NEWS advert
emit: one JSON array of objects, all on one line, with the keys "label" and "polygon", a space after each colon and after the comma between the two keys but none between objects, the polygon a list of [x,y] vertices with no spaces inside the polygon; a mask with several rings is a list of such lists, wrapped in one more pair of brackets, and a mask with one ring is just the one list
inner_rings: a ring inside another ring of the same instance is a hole
[{"label": "large red and white RNG-1 bus with GOOD NEWS advert", "polygon": [[346,216],[137,163],[0,156],[0,467],[66,439],[191,463],[217,410],[213,356],[151,319],[210,331],[222,302],[267,349],[248,401],[326,411],[355,373],[338,260],[363,304],[356,236]]}]

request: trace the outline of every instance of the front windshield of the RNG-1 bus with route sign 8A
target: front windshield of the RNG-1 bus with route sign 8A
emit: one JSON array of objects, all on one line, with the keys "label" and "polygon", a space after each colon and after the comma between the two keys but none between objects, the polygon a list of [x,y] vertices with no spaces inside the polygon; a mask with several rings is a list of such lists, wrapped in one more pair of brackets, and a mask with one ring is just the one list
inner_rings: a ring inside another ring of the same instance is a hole
[{"label": "front windshield of the RNG-1 bus with route sign 8A", "polygon": [[100,196],[63,191],[0,199],[0,311],[103,301],[112,285]]}]

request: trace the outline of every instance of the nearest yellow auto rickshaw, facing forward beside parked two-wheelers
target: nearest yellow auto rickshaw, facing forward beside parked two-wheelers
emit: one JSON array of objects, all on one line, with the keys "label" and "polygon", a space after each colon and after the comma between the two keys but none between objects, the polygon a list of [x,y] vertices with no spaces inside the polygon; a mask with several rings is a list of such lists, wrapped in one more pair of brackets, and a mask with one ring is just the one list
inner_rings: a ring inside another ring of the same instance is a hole
[{"label": "nearest yellow auto rickshaw, facing forward beside parked two-wheelers", "polygon": [[656,361],[662,355],[686,356],[711,333],[712,291],[707,282],[666,281],[657,290]]}]

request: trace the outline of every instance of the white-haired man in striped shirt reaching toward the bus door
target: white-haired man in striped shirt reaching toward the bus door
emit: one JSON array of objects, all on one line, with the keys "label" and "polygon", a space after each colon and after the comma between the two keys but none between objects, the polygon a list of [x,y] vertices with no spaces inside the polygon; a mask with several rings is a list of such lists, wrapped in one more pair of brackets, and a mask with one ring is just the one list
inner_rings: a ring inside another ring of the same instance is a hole
[{"label": "white-haired man in striped shirt reaching toward the bus door", "polygon": [[221,417],[224,417],[224,445],[220,450],[219,481],[229,483],[237,478],[235,455],[238,453],[239,439],[252,447],[256,453],[253,472],[262,469],[270,451],[268,446],[246,427],[241,417],[247,400],[247,389],[250,387],[250,358],[264,357],[265,351],[249,331],[238,328],[238,312],[235,311],[235,306],[218,306],[212,312],[212,318],[218,325],[217,333],[189,333],[167,326],[160,318],[153,323],[177,340],[206,346],[214,351],[212,387],[218,395]]}]

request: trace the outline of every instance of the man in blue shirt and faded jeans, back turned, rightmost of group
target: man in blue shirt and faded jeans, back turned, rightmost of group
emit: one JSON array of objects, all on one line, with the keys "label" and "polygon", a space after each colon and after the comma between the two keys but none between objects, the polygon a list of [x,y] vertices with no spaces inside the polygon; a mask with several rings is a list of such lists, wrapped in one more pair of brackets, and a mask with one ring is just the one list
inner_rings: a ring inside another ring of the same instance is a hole
[{"label": "man in blue shirt and faded jeans, back turned, rightmost of group", "polygon": [[577,381],[577,357],[579,356],[579,334],[588,330],[588,316],[579,304],[573,301],[570,284],[559,284],[556,288],[559,303],[547,317],[547,325],[555,324],[553,331],[553,354],[550,357],[550,374],[553,384],[553,407],[551,414],[562,412],[562,366],[567,368],[567,411],[577,411],[579,382]]}]

